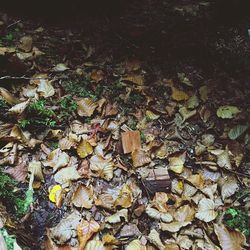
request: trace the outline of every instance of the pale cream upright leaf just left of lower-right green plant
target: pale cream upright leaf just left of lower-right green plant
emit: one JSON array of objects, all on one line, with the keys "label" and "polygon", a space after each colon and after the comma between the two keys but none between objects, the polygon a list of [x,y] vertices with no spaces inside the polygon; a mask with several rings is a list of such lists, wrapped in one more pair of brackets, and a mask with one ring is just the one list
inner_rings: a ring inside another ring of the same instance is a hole
[{"label": "pale cream upright leaf just left of lower-right green plant", "polygon": [[198,204],[198,211],[195,214],[195,217],[199,220],[210,222],[217,217],[217,212],[214,209],[214,202],[210,199],[203,198]]}]

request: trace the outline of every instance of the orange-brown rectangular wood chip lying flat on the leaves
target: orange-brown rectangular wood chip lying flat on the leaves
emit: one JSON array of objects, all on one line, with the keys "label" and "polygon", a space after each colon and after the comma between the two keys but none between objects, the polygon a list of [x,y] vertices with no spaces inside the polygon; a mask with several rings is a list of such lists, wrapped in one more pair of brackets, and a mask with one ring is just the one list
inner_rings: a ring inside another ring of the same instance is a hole
[{"label": "orange-brown rectangular wood chip lying flat on the leaves", "polygon": [[122,132],[122,147],[124,154],[131,153],[136,149],[140,149],[140,132],[138,130]]}]

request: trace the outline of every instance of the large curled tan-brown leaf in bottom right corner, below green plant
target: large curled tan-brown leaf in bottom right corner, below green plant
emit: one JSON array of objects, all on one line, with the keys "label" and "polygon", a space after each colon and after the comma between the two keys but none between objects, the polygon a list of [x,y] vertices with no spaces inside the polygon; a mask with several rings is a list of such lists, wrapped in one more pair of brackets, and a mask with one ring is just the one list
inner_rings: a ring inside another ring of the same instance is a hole
[{"label": "large curled tan-brown leaf in bottom right corner, below green plant", "polygon": [[223,224],[214,224],[214,231],[219,239],[222,250],[243,250],[245,236],[238,231],[227,229]]}]

